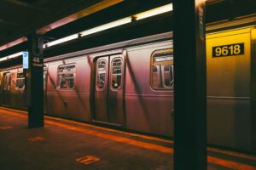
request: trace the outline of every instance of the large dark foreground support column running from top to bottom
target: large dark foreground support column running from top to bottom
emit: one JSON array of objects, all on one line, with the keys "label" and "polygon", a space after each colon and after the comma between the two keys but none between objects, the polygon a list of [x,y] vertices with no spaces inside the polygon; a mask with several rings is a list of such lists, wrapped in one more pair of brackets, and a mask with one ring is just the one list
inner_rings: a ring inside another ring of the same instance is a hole
[{"label": "large dark foreground support column running from top to bottom", "polygon": [[207,169],[205,1],[173,1],[174,169]]}]

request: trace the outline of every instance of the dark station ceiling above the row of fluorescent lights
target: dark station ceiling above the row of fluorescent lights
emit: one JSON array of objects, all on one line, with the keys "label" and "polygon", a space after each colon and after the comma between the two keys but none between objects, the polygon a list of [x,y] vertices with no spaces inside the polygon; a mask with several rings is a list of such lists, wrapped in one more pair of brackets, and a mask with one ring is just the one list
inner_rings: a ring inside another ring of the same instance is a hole
[{"label": "dark station ceiling above the row of fluorescent lights", "polygon": [[[18,50],[9,42],[35,31],[57,39],[166,3],[172,0],[0,0],[0,56]],[[256,0],[207,0],[207,23],[255,14],[255,7]]]}]

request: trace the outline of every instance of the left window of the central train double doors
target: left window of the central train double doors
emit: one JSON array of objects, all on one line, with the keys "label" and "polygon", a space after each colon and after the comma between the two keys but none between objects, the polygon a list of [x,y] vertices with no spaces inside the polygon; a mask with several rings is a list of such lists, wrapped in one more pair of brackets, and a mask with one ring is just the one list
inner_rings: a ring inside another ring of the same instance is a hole
[{"label": "left window of the central train double doors", "polygon": [[96,63],[96,88],[103,89],[105,87],[105,80],[107,74],[107,61],[99,59]]}]

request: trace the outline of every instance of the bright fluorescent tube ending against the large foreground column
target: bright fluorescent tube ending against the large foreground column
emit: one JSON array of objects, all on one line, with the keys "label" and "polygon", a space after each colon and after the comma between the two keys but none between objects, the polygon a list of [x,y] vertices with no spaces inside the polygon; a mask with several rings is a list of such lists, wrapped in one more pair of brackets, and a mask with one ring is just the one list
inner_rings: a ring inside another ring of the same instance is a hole
[{"label": "bright fluorescent tube ending against the large foreground column", "polygon": [[148,17],[154,16],[154,15],[157,15],[157,14],[164,14],[164,13],[167,13],[167,12],[170,12],[170,11],[172,11],[172,3],[161,6],[159,8],[154,8],[154,9],[145,11],[145,12],[140,13],[140,14],[135,14],[135,15],[133,15],[133,17],[136,20],[143,20],[143,19],[146,19]]}]

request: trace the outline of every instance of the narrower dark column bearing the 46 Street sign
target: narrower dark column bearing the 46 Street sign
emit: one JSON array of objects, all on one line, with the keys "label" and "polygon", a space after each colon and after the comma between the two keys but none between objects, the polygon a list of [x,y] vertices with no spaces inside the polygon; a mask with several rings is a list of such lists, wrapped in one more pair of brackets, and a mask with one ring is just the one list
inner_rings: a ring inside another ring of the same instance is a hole
[{"label": "narrower dark column bearing the 46 Street sign", "polygon": [[43,39],[37,34],[27,37],[29,70],[27,71],[28,127],[44,127],[44,59]]}]

